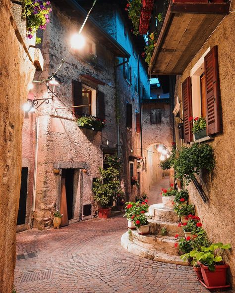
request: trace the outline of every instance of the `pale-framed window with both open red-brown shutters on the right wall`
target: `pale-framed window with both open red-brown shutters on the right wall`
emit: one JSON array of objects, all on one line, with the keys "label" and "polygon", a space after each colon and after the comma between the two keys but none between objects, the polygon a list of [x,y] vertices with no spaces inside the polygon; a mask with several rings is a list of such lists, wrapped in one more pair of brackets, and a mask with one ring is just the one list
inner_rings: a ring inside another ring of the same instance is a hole
[{"label": "pale-framed window with both open red-brown shutters on the right wall", "polygon": [[193,140],[189,117],[205,117],[206,133],[220,132],[219,70],[217,46],[202,55],[191,69],[191,76],[182,83],[184,142]]}]

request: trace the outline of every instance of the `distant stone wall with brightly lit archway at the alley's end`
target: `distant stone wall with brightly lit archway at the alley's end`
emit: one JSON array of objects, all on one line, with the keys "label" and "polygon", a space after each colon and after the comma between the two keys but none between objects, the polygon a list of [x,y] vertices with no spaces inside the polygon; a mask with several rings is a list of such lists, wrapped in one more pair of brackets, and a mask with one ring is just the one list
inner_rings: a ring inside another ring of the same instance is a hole
[{"label": "distant stone wall with brightly lit archway at the alley's end", "polygon": [[[161,110],[161,123],[151,124],[151,109]],[[146,171],[143,172],[143,191],[148,193],[151,186],[163,176],[159,167],[160,156],[155,145],[163,144],[169,151],[173,141],[170,123],[170,100],[149,99],[142,102],[143,147]],[[146,159],[145,159],[146,158]]]}]

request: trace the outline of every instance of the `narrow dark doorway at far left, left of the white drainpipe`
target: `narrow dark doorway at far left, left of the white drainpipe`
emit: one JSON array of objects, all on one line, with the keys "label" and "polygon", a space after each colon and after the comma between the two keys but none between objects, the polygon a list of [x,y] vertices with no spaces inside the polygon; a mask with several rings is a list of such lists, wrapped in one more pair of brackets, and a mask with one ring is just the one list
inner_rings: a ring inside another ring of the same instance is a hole
[{"label": "narrow dark doorway at far left, left of the white drainpipe", "polygon": [[26,201],[27,201],[27,183],[28,183],[28,168],[21,168],[19,210],[18,210],[17,224],[16,225],[25,224]]}]

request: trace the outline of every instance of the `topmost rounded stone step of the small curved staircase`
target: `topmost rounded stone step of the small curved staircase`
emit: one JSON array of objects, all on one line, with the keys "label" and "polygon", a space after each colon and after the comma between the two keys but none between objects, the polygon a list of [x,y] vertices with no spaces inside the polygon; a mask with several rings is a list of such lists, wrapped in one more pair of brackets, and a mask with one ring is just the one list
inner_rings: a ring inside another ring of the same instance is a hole
[{"label": "topmost rounded stone step of the small curved staircase", "polygon": [[172,208],[166,207],[162,203],[152,204],[149,207],[151,218],[161,222],[179,222],[177,214]]}]

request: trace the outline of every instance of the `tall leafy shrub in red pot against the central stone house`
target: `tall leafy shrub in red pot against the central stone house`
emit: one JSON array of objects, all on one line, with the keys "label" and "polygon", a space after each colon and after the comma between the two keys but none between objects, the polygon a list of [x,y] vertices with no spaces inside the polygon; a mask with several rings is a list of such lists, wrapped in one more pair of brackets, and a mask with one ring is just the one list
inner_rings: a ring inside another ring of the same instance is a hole
[{"label": "tall leafy shrub in red pot against the central stone house", "polygon": [[120,186],[120,159],[116,156],[107,156],[107,163],[110,167],[107,169],[99,168],[100,178],[93,182],[92,191],[94,199],[99,203],[99,218],[109,218],[111,216],[111,205],[117,200],[117,196],[124,197]]}]

